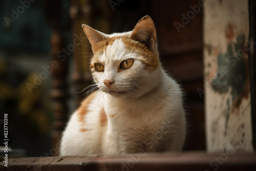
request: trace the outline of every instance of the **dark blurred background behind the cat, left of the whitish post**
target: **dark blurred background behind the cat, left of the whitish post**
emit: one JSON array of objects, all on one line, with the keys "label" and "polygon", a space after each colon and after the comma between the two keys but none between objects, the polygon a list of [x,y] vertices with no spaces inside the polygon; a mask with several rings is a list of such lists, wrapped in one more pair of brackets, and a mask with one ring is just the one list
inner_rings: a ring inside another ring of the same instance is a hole
[{"label": "dark blurred background behind the cat, left of the whitish post", "polygon": [[[246,5],[243,10],[249,13],[247,1]],[[104,33],[125,32],[150,15],[162,65],[184,91],[184,150],[206,151],[204,67],[211,63],[205,64],[203,58],[203,10],[198,0],[1,1],[0,126],[7,113],[9,146],[24,149],[26,156],[58,154],[61,132],[84,98],[77,92],[92,83],[87,54],[91,48],[81,24]],[[249,18],[247,24],[248,37]],[[218,48],[206,49],[218,56]],[[251,116],[253,110],[247,113]],[[252,146],[252,127],[248,129]]]}]

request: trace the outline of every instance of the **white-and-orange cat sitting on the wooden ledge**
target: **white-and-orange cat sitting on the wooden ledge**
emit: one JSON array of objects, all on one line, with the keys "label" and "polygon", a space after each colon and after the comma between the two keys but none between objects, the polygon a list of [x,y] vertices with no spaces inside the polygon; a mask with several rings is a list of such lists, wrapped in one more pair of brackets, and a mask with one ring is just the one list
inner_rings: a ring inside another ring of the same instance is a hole
[{"label": "white-and-orange cat sitting on the wooden ledge", "polygon": [[99,90],[71,116],[60,155],[181,151],[182,92],[161,66],[152,18],[144,16],[125,33],[82,28],[92,46],[90,68]]}]

